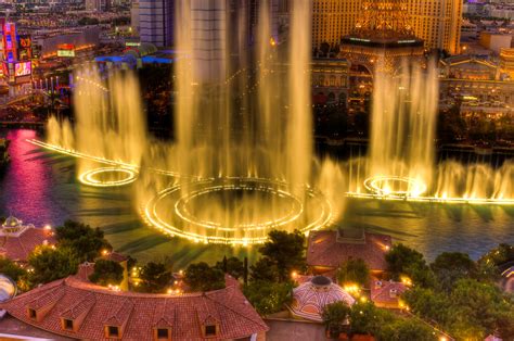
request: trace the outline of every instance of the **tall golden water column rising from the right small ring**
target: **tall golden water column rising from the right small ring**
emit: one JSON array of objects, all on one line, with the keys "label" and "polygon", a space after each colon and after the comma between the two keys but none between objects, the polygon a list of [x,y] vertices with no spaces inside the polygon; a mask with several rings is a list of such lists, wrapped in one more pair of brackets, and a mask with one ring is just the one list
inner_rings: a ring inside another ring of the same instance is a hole
[{"label": "tall golden water column rising from the right small ring", "polygon": [[437,103],[433,64],[424,72],[404,62],[397,75],[374,75],[370,175],[382,179],[377,187],[384,192],[419,195],[422,184],[431,185]]}]

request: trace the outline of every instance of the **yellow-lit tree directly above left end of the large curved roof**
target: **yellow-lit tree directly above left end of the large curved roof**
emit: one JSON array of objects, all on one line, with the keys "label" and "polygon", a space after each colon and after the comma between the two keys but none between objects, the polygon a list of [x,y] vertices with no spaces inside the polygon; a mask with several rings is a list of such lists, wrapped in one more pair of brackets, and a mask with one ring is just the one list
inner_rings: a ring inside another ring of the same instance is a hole
[{"label": "yellow-lit tree directly above left end of the large curved roof", "polygon": [[79,258],[70,248],[39,247],[28,256],[28,264],[33,268],[29,281],[39,285],[75,275]]}]

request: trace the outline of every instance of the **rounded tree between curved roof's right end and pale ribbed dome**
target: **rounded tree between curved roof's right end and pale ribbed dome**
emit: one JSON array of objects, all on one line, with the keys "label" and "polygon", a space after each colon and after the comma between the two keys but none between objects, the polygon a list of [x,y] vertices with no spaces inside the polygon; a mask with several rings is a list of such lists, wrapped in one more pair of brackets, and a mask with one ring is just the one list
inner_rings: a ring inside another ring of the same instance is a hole
[{"label": "rounded tree between curved roof's right end and pale ribbed dome", "polygon": [[244,295],[260,315],[278,313],[290,304],[293,285],[262,280],[252,281],[243,288]]}]

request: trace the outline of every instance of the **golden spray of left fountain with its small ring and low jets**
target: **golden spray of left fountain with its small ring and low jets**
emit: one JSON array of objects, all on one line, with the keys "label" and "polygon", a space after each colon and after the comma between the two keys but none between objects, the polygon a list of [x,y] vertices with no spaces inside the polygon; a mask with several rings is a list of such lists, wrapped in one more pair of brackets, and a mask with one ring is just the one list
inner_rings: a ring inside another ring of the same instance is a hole
[{"label": "golden spray of left fountain with its small ring and low jets", "polygon": [[[107,79],[102,79],[97,67],[77,71],[74,129],[68,121],[59,123],[55,117],[47,127],[49,143],[79,156],[79,180],[97,187],[136,180],[146,149],[137,78],[130,72],[114,72]],[[99,163],[106,166],[99,167]]]}]

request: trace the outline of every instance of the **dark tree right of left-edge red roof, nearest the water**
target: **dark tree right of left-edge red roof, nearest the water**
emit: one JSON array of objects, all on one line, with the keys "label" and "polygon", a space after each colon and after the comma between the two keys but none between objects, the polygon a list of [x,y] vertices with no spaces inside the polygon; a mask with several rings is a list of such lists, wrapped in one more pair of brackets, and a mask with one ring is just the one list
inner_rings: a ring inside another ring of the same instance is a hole
[{"label": "dark tree right of left-edge red roof, nearest the water", "polygon": [[66,220],[63,226],[55,229],[55,237],[60,247],[68,247],[76,251],[80,262],[93,262],[102,250],[112,250],[113,247],[105,240],[100,228]]}]

